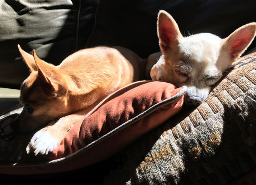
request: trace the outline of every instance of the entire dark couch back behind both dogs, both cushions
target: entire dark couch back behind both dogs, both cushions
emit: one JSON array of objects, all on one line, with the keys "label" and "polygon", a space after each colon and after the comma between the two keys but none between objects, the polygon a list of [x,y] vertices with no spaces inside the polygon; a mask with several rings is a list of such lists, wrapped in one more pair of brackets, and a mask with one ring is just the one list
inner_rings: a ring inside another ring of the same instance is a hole
[{"label": "entire dark couch back behind both dogs, both cushions", "polygon": [[0,2],[0,87],[9,88],[19,88],[29,74],[17,44],[27,52],[36,49],[41,59],[56,65],[78,49],[98,45],[123,46],[147,58],[159,51],[159,10],[174,17],[183,35],[210,32],[225,38],[256,21],[255,0],[100,0],[99,5],[98,0]]}]

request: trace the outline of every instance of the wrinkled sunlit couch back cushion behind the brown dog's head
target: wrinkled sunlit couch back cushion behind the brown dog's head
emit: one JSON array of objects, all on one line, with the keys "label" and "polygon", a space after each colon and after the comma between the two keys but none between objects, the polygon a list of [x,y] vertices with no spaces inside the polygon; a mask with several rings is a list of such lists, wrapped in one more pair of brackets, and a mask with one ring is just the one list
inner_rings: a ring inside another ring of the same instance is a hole
[{"label": "wrinkled sunlit couch back cushion behind the brown dog's head", "polygon": [[[59,64],[91,33],[97,0],[5,0],[0,6],[0,87],[19,88],[28,76],[17,44]],[[80,13],[80,14],[78,14]],[[81,46],[82,44],[82,46]]]}]

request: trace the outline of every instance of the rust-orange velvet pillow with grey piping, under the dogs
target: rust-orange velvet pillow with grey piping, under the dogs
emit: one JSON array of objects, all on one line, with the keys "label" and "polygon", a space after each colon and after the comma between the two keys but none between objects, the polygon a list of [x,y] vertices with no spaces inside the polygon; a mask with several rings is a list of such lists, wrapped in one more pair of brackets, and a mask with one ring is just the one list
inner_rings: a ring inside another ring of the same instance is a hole
[{"label": "rust-orange velvet pillow with grey piping, under the dogs", "polygon": [[185,90],[165,82],[132,83],[109,95],[77,122],[48,154],[50,161],[32,166],[0,165],[0,173],[55,173],[106,159],[179,112]]}]

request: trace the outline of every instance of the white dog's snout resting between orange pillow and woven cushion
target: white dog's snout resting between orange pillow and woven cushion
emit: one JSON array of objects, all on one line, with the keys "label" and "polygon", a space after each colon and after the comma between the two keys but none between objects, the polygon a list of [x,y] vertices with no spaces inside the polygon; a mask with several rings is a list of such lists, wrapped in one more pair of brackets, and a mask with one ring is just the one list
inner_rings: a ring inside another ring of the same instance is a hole
[{"label": "white dog's snout resting between orange pillow and woven cushion", "polygon": [[188,87],[184,96],[184,101],[189,106],[199,106],[205,101],[206,97],[210,93],[210,89],[198,89],[195,87]]}]

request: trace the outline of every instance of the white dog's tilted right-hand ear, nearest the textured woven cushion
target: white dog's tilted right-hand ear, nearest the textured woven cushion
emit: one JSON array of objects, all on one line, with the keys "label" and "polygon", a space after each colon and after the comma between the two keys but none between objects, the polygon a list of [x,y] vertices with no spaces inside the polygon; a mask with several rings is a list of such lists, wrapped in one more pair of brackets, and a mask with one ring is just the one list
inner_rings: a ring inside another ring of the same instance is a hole
[{"label": "white dog's tilted right-hand ear, nearest the textured woven cushion", "polygon": [[227,52],[232,62],[243,54],[256,34],[256,23],[249,23],[236,29],[223,39],[222,50]]}]

